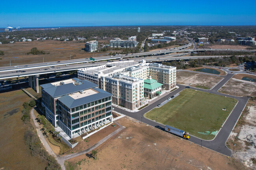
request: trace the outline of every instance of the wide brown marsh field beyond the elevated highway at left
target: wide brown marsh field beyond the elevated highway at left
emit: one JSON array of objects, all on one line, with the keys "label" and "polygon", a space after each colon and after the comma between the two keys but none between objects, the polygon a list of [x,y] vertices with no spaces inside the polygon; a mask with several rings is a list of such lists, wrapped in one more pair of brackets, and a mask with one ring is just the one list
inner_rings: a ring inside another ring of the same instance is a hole
[{"label": "wide brown marsh field beyond the elevated highway at left", "polygon": [[[32,42],[15,42],[14,44],[2,44],[1,50],[4,51],[4,56],[0,62],[0,66],[9,66],[10,58],[11,65],[17,64],[31,64],[43,62],[51,62],[58,60],[69,60],[77,58],[89,58],[108,55],[109,52],[102,53],[89,53],[84,48],[84,42],[77,41],[56,41],[56,40],[44,40],[44,41],[32,41]],[[45,51],[44,55],[26,55],[32,48],[36,47],[40,51]]]}]

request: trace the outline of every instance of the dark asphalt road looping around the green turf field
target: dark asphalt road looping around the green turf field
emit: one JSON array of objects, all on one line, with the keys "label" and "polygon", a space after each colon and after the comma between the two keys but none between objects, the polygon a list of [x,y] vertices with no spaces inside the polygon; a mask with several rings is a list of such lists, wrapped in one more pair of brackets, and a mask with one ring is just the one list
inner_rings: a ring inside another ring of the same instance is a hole
[{"label": "dark asphalt road looping around the green turf field", "polygon": [[[205,91],[205,92],[208,92],[208,93],[213,93],[213,94],[226,96],[226,97],[231,97],[231,98],[234,97],[234,99],[238,100],[238,103],[235,106],[234,110],[232,111],[232,113],[230,113],[228,119],[226,119],[226,122],[224,122],[223,126],[219,130],[219,133],[215,136],[215,138],[213,140],[206,141],[206,140],[199,139],[199,138],[197,138],[195,136],[192,136],[192,135],[190,135],[190,138],[189,138],[189,141],[191,141],[193,143],[204,146],[206,148],[209,148],[211,150],[214,150],[216,152],[219,152],[219,153],[227,155],[227,156],[232,155],[232,150],[230,150],[229,148],[226,147],[226,140],[228,139],[232,129],[236,125],[236,122],[239,119],[239,117],[241,115],[241,112],[243,111],[243,109],[244,109],[244,107],[245,107],[245,105],[247,104],[247,101],[248,101],[247,97],[236,97],[236,96],[231,96],[231,95],[225,95],[225,94],[222,94],[222,93],[218,92],[219,88],[221,88],[230,78],[232,78],[232,76],[233,76],[233,74],[227,74],[226,76],[221,76],[224,79],[221,80],[221,82],[219,82],[219,84],[217,84],[211,90],[203,90],[203,89],[191,87],[191,89],[194,89],[194,90]],[[144,114],[149,112],[153,108],[155,108],[158,104],[166,101],[172,95],[175,95],[175,94],[179,93],[180,91],[184,90],[185,87],[186,87],[186,86],[183,86],[183,85],[180,85],[180,84],[178,86],[180,88],[178,88],[177,90],[174,90],[172,92],[169,92],[168,95],[165,95],[165,96],[159,98],[156,102],[148,105],[147,107],[143,108],[139,112],[128,112],[126,110],[122,110],[121,108],[117,108],[115,106],[113,106],[113,107],[115,108],[115,111],[117,111],[119,113],[122,113],[122,114],[125,114],[125,115],[127,115],[129,117],[132,117],[134,119],[137,119],[138,121],[142,121],[146,124],[149,124],[150,126],[161,126],[162,128],[164,128],[165,125],[160,124],[156,121],[151,121],[149,119],[146,119],[144,117]]]}]

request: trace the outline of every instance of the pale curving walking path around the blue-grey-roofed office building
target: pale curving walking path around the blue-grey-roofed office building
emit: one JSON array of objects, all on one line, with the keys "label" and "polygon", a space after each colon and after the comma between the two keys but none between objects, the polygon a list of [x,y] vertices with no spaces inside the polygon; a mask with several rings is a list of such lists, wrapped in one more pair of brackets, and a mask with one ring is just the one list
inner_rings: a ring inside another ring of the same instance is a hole
[{"label": "pale curving walking path around the blue-grey-roofed office building", "polygon": [[[37,135],[38,135],[38,137],[39,137],[41,143],[45,146],[46,151],[47,151],[50,155],[54,156],[55,159],[58,161],[59,165],[61,166],[61,170],[66,170],[64,163],[65,163],[65,161],[66,161],[67,159],[71,159],[71,158],[73,158],[73,157],[77,157],[77,156],[79,156],[79,155],[86,154],[87,152],[90,152],[90,151],[94,150],[95,148],[97,148],[98,146],[100,146],[100,144],[104,143],[104,142],[105,142],[106,140],[108,140],[110,137],[112,137],[113,135],[117,134],[118,132],[120,132],[121,130],[123,130],[123,129],[125,128],[125,127],[122,126],[121,124],[115,122],[115,124],[119,125],[120,128],[118,128],[118,129],[115,130],[114,132],[110,133],[108,136],[104,137],[103,139],[101,139],[100,141],[98,141],[96,144],[94,144],[94,145],[91,146],[90,148],[87,148],[86,150],[83,150],[83,151],[78,152],[78,153],[69,154],[69,155],[65,155],[65,156],[60,157],[60,156],[57,156],[57,155],[52,151],[52,148],[49,146],[49,144],[47,143],[45,137],[43,136],[43,133],[42,133],[41,130],[40,130],[41,127],[40,127],[40,125],[38,124],[37,119],[36,119],[36,117],[35,117],[35,115],[34,115],[34,110],[35,110],[35,109],[32,108],[32,110],[30,111],[30,115],[31,115],[31,117],[32,117],[32,119],[33,119],[33,122],[34,122],[34,124],[35,124],[35,128],[36,128],[36,130],[37,130]],[[121,117],[121,116],[120,116],[120,117]],[[122,115],[122,117],[124,117],[124,115]],[[115,120],[117,120],[117,119],[115,119]]]}]

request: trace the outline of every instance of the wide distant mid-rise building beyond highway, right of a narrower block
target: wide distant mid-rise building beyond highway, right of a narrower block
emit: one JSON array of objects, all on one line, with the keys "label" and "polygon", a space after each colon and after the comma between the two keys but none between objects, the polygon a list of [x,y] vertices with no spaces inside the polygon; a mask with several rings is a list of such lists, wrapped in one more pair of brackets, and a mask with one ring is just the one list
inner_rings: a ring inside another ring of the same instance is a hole
[{"label": "wide distant mid-rise building beyond highway, right of a narrower block", "polygon": [[137,44],[138,42],[136,40],[121,40],[120,38],[114,38],[109,41],[109,46],[115,48],[135,48]]}]

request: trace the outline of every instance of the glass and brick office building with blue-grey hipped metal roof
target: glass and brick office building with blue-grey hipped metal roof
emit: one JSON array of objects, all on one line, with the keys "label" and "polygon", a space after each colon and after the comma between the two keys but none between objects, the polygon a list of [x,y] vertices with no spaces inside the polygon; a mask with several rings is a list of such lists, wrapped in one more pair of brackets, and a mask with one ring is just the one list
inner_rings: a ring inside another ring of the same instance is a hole
[{"label": "glass and brick office building with blue-grey hipped metal roof", "polygon": [[45,117],[71,139],[112,121],[111,94],[77,78],[41,85]]}]

